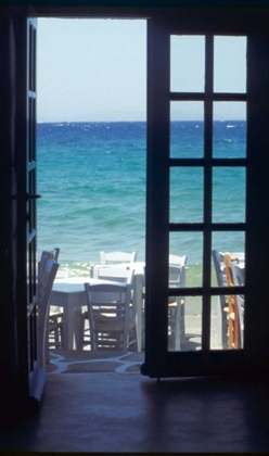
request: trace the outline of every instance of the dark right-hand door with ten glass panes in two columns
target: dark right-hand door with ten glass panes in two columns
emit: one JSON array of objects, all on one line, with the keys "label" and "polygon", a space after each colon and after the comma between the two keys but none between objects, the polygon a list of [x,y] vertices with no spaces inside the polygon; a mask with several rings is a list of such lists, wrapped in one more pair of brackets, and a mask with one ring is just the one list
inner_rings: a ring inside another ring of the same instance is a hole
[{"label": "dark right-hand door with ten glass panes in two columns", "polygon": [[[218,282],[214,251],[244,261],[246,37],[206,27],[170,34],[161,20],[149,37],[145,365],[157,377],[213,372],[215,352],[227,351],[229,364],[243,350],[244,313],[239,322],[235,302],[244,301],[244,282]],[[240,83],[231,71],[226,85],[223,65],[228,71],[234,59]]]}]

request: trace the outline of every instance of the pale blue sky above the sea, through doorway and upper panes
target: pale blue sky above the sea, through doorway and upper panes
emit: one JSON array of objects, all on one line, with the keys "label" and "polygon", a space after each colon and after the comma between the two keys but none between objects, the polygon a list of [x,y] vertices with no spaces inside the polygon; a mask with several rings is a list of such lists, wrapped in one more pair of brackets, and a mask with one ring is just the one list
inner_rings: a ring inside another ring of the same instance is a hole
[{"label": "pale blue sky above the sea, through doorway and upper panes", "polygon": [[[37,122],[146,118],[146,21],[39,18]],[[203,36],[172,36],[170,90],[204,90]],[[245,37],[215,37],[215,91],[244,92]],[[172,102],[171,119],[203,119],[203,103]],[[215,119],[245,119],[245,103],[215,103]]]}]

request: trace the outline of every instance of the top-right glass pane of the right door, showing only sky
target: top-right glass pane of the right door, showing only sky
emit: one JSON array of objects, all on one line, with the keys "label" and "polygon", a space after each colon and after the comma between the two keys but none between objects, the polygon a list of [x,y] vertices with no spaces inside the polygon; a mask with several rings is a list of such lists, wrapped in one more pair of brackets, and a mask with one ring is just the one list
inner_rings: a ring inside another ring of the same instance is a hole
[{"label": "top-right glass pane of the right door, showing only sky", "polygon": [[246,91],[246,37],[214,37],[214,91]]}]

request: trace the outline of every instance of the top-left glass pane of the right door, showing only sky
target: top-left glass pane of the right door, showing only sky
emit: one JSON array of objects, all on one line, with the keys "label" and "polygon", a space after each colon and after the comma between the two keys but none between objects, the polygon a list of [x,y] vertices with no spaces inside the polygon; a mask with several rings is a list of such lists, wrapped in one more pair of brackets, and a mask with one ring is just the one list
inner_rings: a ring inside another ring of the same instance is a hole
[{"label": "top-left glass pane of the right door, showing only sky", "polygon": [[170,37],[170,90],[205,90],[205,37]]}]

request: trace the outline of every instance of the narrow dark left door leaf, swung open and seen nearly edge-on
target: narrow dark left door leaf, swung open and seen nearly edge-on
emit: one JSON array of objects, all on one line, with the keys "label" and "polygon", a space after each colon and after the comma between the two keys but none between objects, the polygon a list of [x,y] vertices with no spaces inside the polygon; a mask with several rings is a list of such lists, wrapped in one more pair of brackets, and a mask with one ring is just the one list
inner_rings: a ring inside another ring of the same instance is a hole
[{"label": "narrow dark left door leaf, swung open and seen nearly edge-on", "polygon": [[[34,12],[27,17],[27,93],[26,93],[26,287],[24,295],[27,305],[27,342],[29,395],[40,401],[46,372],[38,364],[38,306],[37,306],[37,145],[36,145],[36,49],[37,18]],[[24,217],[25,214],[22,214]],[[23,243],[22,243],[23,244]],[[22,284],[23,286],[23,284]]]}]

